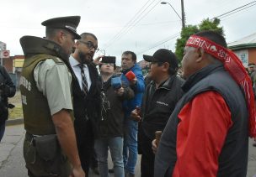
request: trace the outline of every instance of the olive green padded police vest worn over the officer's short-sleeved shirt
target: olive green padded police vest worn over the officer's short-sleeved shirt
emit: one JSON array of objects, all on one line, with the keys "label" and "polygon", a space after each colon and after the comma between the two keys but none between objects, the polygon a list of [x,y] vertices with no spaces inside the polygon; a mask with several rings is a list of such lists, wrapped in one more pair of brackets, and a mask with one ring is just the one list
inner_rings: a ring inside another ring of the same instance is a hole
[{"label": "olive green padded police vest worn over the officer's short-sleeved shirt", "polygon": [[[35,66],[43,60],[52,59],[67,65],[67,55],[61,46],[46,39],[24,36],[20,39],[25,60],[20,79],[20,92],[24,112],[24,128],[30,134],[56,133],[46,97],[37,89],[34,79]],[[58,59],[61,59],[58,60]]]}]

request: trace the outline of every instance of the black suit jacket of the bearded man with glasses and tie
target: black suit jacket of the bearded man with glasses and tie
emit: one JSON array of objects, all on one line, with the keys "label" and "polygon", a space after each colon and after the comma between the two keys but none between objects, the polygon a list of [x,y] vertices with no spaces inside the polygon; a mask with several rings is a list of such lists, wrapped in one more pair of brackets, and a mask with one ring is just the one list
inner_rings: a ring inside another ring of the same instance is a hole
[{"label": "black suit jacket of the bearded man with glasses and tie", "polygon": [[[69,67],[71,67],[69,65]],[[101,98],[99,74],[93,63],[88,64],[88,70],[92,85],[87,96],[84,95],[77,81],[76,75],[72,71],[72,96],[74,112],[74,128],[77,135],[77,143],[84,142],[85,137],[93,138],[96,133],[97,122],[100,118]]]}]

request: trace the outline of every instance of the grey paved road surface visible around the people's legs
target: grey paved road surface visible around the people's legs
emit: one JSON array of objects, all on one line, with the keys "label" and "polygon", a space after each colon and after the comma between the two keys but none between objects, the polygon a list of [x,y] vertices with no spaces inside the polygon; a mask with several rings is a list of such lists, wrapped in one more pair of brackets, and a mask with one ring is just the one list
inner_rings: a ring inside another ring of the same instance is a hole
[{"label": "grey paved road surface visible around the people's legs", "polygon": [[[26,177],[22,146],[24,140],[24,125],[8,126],[0,143],[0,177]],[[249,146],[248,175],[256,177],[256,148]],[[111,163],[109,162],[110,166]],[[136,166],[136,177],[140,176],[140,158]],[[89,174],[91,177],[99,175]],[[255,176],[254,176],[255,175]]]}]

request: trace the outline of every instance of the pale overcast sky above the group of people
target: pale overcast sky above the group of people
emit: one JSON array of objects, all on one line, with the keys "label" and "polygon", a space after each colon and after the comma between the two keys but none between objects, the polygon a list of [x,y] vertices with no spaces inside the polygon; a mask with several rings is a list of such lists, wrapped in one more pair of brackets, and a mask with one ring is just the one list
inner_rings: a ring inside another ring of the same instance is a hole
[{"label": "pale overcast sky above the group of people", "polygon": [[[181,16],[180,0],[164,0]],[[23,55],[19,39],[24,35],[45,36],[40,23],[49,18],[79,15],[77,33],[93,33],[100,51],[94,56],[116,56],[117,65],[125,50],[134,51],[137,60],[157,49],[175,51],[182,23],[179,16],[161,0],[6,0],[1,1],[0,41],[10,54]],[[185,22],[199,24],[253,0],[184,0]],[[256,5],[221,18],[227,43],[256,33]]]}]

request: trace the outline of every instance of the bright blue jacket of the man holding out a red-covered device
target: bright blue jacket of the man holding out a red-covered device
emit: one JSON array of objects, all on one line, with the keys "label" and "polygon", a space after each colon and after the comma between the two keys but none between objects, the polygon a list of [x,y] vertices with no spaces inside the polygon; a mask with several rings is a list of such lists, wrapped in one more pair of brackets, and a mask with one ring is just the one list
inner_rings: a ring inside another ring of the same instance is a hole
[{"label": "bright blue jacket of the man holding out a red-covered device", "polygon": [[[141,67],[136,64],[133,67],[131,67],[130,70],[136,75],[137,82],[136,82],[136,85],[131,86],[131,89],[135,93],[134,98],[131,100],[125,100],[123,102],[125,117],[130,117],[131,112],[136,108],[136,106],[141,107],[142,96],[143,96],[143,92],[145,91],[145,84],[144,84],[144,79],[141,72]],[[130,82],[127,80],[125,76],[125,74],[130,70],[124,70],[122,75],[120,76],[122,83],[125,84],[126,86],[130,86]]]}]

